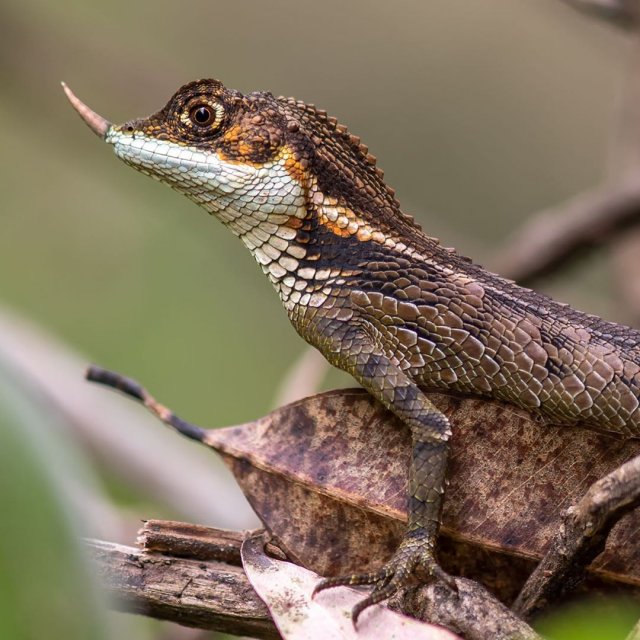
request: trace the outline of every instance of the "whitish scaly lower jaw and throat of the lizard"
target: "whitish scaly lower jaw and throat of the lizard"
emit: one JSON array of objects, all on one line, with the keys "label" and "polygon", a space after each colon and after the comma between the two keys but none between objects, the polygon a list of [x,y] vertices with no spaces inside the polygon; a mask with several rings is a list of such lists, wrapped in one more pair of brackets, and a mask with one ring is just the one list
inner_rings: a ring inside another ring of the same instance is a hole
[{"label": "whitish scaly lower jaw and throat of the lizard", "polygon": [[307,248],[297,242],[307,216],[305,189],[286,149],[256,166],[215,152],[112,127],[106,141],[138,171],[170,185],[237,235],[274,284],[286,307],[304,294],[296,276]]}]

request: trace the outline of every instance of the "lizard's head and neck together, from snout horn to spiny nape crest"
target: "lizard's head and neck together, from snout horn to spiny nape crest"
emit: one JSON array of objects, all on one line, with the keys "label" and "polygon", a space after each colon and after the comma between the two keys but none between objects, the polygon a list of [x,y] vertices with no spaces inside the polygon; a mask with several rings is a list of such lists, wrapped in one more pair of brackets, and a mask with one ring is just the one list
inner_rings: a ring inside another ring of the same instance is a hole
[{"label": "lizard's head and neck together, from snout horn to spiny nape crest", "polygon": [[383,244],[414,227],[367,147],[313,105],[198,80],[157,113],[113,125],[65,91],[122,160],[222,220],[272,279],[294,262],[281,252],[308,261],[312,243]]}]

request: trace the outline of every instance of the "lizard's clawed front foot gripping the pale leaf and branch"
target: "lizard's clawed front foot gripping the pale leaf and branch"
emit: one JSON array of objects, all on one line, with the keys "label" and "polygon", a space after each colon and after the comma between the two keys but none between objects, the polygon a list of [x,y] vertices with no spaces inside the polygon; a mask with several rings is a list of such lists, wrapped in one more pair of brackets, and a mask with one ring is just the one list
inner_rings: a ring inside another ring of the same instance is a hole
[{"label": "lizard's clawed front foot gripping the pale leaf and branch", "polygon": [[351,619],[355,626],[360,614],[367,607],[386,600],[399,589],[431,579],[441,580],[457,591],[453,577],[441,569],[436,562],[431,541],[421,537],[407,536],[382,568],[369,573],[325,578],[316,585],[312,597],[331,587],[374,585],[371,593],[358,602],[351,611]]}]

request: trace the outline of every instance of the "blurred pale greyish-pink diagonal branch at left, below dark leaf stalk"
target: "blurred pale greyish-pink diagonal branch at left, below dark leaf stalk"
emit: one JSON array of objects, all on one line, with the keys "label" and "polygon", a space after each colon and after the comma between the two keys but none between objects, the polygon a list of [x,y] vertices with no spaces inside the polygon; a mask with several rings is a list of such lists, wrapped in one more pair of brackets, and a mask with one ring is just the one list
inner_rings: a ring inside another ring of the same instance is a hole
[{"label": "blurred pale greyish-pink diagonal branch at left, below dark leaf stalk", "polygon": [[[0,309],[0,363],[61,416],[60,423],[102,468],[132,491],[187,519],[232,528],[255,524],[222,463],[158,428],[155,420],[118,396],[92,388],[84,381],[85,362],[42,329]],[[92,510],[95,505],[108,508],[104,498],[95,495],[82,502]],[[109,520],[102,517],[96,521]]]}]

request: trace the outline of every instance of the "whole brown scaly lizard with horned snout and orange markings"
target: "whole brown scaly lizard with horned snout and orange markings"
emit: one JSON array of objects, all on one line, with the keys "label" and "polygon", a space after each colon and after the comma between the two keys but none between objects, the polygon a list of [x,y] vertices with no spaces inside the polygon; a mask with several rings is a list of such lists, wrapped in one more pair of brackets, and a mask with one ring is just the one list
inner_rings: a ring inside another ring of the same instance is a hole
[{"label": "whole brown scaly lizard with horned snout and orange markings", "polygon": [[501,400],[541,421],[640,437],[640,332],[493,274],[422,231],[360,138],[314,105],[204,79],[114,125],[63,84],[125,163],[185,194],[253,254],[297,332],[410,429],[408,524],[353,609],[438,564],[451,428],[425,390]]}]

